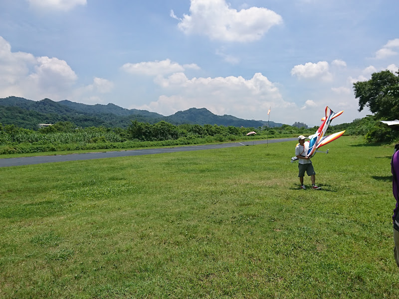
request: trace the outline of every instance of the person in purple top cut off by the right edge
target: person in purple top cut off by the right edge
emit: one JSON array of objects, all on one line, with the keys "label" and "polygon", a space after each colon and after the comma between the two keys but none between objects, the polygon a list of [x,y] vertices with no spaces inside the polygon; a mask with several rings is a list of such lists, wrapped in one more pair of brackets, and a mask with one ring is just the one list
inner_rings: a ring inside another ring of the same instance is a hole
[{"label": "person in purple top cut off by the right edge", "polygon": [[394,222],[394,242],[395,242],[395,247],[394,247],[394,256],[395,256],[395,261],[396,264],[399,267],[399,190],[398,190],[398,184],[399,184],[399,150],[398,146],[395,146],[395,153],[392,156],[391,160],[391,172],[393,175],[393,180],[392,180],[392,191],[394,193],[394,197],[396,199],[396,206],[394,209],[394,216],[392,216],[392,220]]}]

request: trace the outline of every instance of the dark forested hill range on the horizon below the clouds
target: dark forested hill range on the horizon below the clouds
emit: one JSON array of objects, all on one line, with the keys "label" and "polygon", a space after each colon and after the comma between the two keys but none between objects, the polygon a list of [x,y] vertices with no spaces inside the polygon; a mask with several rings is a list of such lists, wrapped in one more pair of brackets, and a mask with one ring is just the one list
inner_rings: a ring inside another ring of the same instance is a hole
[{"label": "dark forested hill range on the horizon below the clouds", "polygon": [[[155,124],[166,121],[173,125],[223,125],[234,127],[260,127],[264,121],[243,120],[231,115],[214,115],[205,108],[191,108],[179,111],[171,116],[137,109],[125,109],[114,104],[86,105],[68,100],[54,102],[50,99],[32,101],[18,97],[0,98],[0,123],[15,125],[25,129],[37,129],[39,123],[54,124],[68,121],[78,127],[120,127],[126,128],[132,120]],[[270,127],[282,124],[270,122]]]}]

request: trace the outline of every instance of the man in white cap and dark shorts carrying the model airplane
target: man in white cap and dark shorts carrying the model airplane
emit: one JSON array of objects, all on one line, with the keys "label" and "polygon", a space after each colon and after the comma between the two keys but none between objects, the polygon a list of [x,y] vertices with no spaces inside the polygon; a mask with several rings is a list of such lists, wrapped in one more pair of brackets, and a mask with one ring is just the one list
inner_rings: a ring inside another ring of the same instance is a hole
[{"label": "man in white cap and dark shorts carrying the model airplane", "polygon": [[312,161],[306,155],[309,150],[309,142],[305,142],[305,136],[301,135],[298,137],[299,144],[295,148],[295,155],[299,159],[298,160],[298,168],[299,168],[299,181],[301,182],[301,189],[306,189],[303,184],[303,177],[305,175],[305,171],[308,175],[310,175],[310,180],[312,181],[312,189],[319,190],[321,187],[315,185],[316,181],[316,172],[313,168]]}]

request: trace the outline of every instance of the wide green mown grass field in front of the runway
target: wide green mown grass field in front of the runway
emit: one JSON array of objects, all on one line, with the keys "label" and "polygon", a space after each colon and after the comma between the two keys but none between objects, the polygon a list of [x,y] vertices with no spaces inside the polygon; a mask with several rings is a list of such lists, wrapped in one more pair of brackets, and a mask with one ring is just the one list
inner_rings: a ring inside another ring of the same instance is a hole
[{"label": "wide green mown grass field in front of the runway", "polygon": [[393,148],[295,144],[0,168],[0,297],[398,298]]}]

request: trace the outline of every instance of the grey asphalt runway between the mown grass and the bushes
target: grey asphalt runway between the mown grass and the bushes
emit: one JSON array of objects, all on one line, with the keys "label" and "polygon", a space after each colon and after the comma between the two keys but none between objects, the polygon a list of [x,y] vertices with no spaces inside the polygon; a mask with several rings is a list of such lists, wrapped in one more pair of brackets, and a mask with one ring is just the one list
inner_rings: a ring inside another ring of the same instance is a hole
[{"label": "grey asphalt runway between the mown grass and the bushes", "polygon": [[202,149],[225,149],[225,148],[234,148],[234,147],[243,147],[243,146],[256,146],[256,145],[267,144],[267,143],[272,144],[272,143],[277,143],[277,142],[287,142],[287,141],[294,141],[294,140],[297,140],[297,138],[256,140],[256,141],[225,143],[225,144],[216,144],[216,145],[187,146],[187,147],[177,147],[177,148],[133,149],[133,150],[122,150],[122,151],[86,152],[86,153],[31,156],[31,157],[19,157],[19,158],[0,158],[0,167],[32,165],[32,164],[52,163],[52,162],[78,161],[78,160],[91,160],[91,159],[102,159],[102,158],[114,158],[114,157],[126,157],[126,156],[135,156],[135,155],[143,155],[143,154],[156,154],[156,153],[191,151],[191,150],[202,150]]}]

